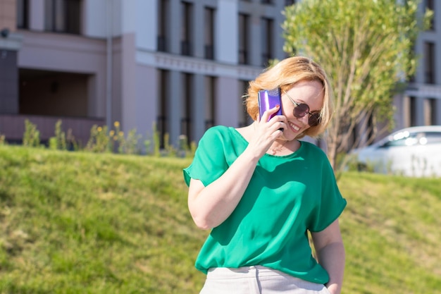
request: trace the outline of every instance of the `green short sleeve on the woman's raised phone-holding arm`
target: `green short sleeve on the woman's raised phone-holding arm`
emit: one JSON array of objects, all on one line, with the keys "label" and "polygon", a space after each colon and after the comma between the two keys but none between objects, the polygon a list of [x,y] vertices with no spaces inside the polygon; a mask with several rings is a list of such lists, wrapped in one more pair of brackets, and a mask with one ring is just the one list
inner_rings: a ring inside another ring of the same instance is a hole
[{"label": "green short sleeve on the woman's raised phone-holding arm", "polygon": [[230,141],[220,127],[206,130],[199,141],[192,164],[183,170],[185,183],[190,185],[190,178],[194,178],[206,186],[222,176],[228,169],[225,146],[230,145]]}]

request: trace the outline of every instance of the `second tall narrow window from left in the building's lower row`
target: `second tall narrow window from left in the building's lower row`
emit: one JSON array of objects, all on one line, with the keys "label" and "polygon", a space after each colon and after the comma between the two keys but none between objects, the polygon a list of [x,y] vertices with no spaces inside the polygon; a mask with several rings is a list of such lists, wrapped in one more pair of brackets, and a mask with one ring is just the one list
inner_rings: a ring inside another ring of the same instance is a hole
[{"label": "second tall narrow window from left in the building's lower row", "polygon": [[193,106],[193,75],[182,73],[182,114],[181,114],[181,135],[187,136],[187,142],[192,142],[192,106]]}]

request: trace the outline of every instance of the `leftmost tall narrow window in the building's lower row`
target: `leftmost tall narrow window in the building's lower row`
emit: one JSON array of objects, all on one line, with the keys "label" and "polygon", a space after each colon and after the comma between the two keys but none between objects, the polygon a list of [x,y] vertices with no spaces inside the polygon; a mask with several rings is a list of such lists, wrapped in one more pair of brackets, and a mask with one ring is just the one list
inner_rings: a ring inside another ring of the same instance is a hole
[{"label": "leftmost tall narrow window in the building's lower row", "polygon": [[159,146],[163,148],[165,146],[164,144],[164,137],[166,133],[169,133],[169,127],[168,127],[168,109],[170,104],[170,93],[169,85],[170,85],[170,73],[169,71],[165,70],[159,70],[159,109],[158,109],[158,117],[156,118],[156,128],[159,133]]}]

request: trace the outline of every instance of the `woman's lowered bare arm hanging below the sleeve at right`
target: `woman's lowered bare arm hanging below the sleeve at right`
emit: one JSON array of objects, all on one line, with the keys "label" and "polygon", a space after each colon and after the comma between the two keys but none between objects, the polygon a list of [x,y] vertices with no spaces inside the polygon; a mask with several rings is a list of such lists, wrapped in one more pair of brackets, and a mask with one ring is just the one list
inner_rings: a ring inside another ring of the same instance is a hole
[{"label": "woman's lowered bare arm hanging below the sleeve at right", "polygon": [[340,294],[344,272],[344,246],[338,219],[323,231],[311,233],[318,263],[328,271],[326,287],[332,294]]}]

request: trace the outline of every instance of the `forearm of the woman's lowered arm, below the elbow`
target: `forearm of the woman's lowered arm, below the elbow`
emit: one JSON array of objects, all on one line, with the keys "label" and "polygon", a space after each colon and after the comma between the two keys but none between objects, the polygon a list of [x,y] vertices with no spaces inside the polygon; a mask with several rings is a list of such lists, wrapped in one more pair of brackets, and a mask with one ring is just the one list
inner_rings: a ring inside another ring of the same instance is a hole
[{"label": "forearm of the woman's lowered arm, below the elbow", "polygon": [[317,252],[318,262],[328,271],[329,282],[326,287],[332,294],[340,294],[344,274],[344,245],[341,242],[330,243]]}]

